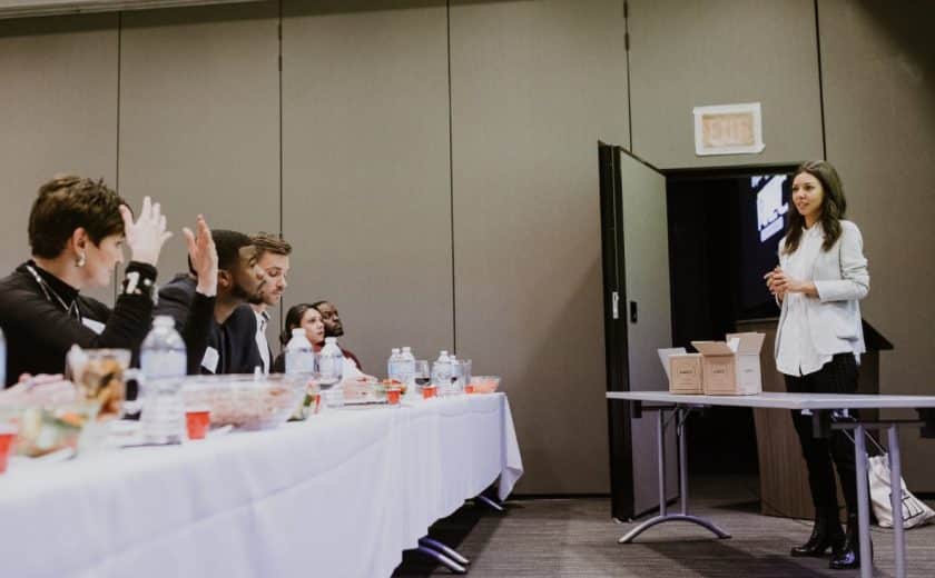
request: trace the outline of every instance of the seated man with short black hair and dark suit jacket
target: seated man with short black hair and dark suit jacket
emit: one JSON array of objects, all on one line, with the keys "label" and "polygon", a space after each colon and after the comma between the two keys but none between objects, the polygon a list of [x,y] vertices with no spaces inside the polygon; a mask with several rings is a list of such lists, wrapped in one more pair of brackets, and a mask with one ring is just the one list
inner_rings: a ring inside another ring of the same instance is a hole
[{"label": "seated man with short black hair and dark suit jacket", "polygon": [[[246,235],[229,230],[215,230],[214,245],[217,249],[217,278],[203,279],[200,272],[189,263],[189,271],[176,276],[159,290],[156,315],[171,316],[177,328],[189,323],[196,293],[205,295],[215,285],[217,298],[214,317],[201,323],[203,331],[183,331],[186,338],[189,373],[233,373],[247,371],[250,352],[255,353],[255,330],[245,333],[240,328],[253,312],[238,307],[256,302],[266,282],[266,276],[257,266],[256,249]],[[244,318],[244,319],[242,319]],[[195,335],[195,337],[189,337]],[[253,346],[253,347],[249,347]]]}]

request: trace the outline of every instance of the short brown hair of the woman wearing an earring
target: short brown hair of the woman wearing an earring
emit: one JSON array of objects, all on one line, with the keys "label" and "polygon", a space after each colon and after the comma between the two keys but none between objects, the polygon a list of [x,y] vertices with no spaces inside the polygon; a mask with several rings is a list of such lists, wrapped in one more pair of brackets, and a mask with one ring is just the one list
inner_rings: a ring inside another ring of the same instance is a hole
[{"label": "short brown hair of the woman wearing an earring", "polygon": [[52,178],[39,188],[29,211],[32,255],[55,259],[79,227],[95,245],[105,237],[124,235],[121,205],[127,202],[104,179],[94,181],[73,175]]}]

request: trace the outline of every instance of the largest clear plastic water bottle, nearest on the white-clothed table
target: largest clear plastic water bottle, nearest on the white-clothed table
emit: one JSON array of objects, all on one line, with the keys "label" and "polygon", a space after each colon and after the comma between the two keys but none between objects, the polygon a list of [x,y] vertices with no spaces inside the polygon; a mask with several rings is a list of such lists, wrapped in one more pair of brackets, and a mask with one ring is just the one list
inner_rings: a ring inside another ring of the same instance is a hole
[{"label": "largest clear plastic water bottle, nearest on the white-clothed table", "polygon": [[149,444],[178,444],[185,436],[185,341],[169,316],[157,316],[140,348],[145,377],[140,416],[142,437]]}]

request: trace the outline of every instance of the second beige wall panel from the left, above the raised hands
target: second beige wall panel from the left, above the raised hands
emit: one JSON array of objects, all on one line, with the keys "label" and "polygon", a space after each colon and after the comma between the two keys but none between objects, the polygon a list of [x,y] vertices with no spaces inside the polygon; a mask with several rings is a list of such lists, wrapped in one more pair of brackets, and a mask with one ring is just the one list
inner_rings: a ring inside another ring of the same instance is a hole
[{"label": "second beige wall panel from the left, above the raised hands", "polygon": [[136,203],[163,202],[176,233],[165,282],[187,269],[181,227],[199,212],[219,229],[279,230],[278,13],[258,3],[122,18],[120,186]]}]

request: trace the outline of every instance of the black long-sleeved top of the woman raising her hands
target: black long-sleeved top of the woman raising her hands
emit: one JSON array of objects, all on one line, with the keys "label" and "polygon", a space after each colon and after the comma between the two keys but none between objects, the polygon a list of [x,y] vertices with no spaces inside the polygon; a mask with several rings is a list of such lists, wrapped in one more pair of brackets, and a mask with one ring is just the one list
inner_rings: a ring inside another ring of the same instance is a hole
[{"label": "black long-sleeved top of the woman raising her hands", "polygon": [[[27,266],[46,283],[45,290]],[[127,272],[132,271],[139,273],[140,282],[156,279],[156,268],[151,265],[130,261]],[[72,345],[137,351],[149,332],[151,318],[152,299],[147,295],[120,293],[111,310],[79,295],[77,289],[30,260],[0,280],[0,327],[7,339],[4,385],[14,383],[24,372],[62,372],[65,355]],[[104,325],[100,333],[88,327],[95,323]]]}]

